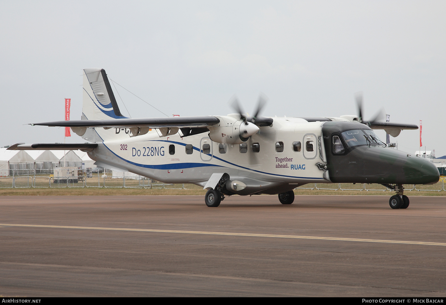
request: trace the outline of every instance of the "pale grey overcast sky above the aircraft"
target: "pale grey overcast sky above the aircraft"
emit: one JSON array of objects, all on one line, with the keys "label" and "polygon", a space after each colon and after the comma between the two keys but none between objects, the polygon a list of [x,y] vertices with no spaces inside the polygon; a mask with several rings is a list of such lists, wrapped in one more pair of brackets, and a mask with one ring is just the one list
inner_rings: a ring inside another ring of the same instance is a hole
[{"label": "pale grey overcast sky above the aircraft", "polygon": [[[63,143],[63,128],[23,124],[64,120],[65,98],[80,119],[81,70],[100,67],[168,115],[226,115],[234,94],[252,112],[260,92],[264,116],[356,114],[362,91],[365,119],[423,120],[441,157],[445,16],[445,1],[2,1],[0,146]],[[124,115],[164,116],[117,90]],[[413,153],[419,131],[394,141]]]}]

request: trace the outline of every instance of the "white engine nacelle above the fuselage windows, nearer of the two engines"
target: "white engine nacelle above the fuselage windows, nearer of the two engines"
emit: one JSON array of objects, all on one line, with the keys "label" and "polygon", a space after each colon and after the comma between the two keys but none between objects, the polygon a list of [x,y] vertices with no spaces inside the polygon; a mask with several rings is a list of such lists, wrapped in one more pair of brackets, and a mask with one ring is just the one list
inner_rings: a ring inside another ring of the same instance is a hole
[{"label": "white engine nacelle above the fuselage windows, nearer of the two engines", "polygon": [[218,116],[220,123],[208,127],[209,137],[212,141],[224,144],[240,144],[259,131],[259,128],[250,122],[245,124],[232,116]]}]

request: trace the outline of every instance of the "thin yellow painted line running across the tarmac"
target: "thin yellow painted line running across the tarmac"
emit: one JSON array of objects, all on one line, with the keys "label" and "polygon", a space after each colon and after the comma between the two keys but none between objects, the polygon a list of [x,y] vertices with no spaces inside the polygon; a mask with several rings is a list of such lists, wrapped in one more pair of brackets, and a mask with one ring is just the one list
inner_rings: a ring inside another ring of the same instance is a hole
[{"label": "thin yellow painted line running across the tarmac", "polygon": [[320,240],[337,240],[337,241],[368,242],[368,243],[404,243],[404,244],[411,244],[411,245],[446,246],[446,243],[429,243],[429,242],[417,242],[417,241],[407,241],[407,240],[324,237],[324,236],[275,235],[275,234],[254,234],[254,233],[230,233],[230,232],[206,232],[206,231],[131,229],[131,228],[71,227],[71,226],[48,226],[48,225],[45,226],[45,225],[25,225],[25,224],[12,224],[12,223],[0,223],[0,226],[62,228],[62,229],[87,229],[87,230],[111,230],[111,231],[137,231],[137,232],[156,232],[156,233],[185,233],[185,234],[229,235],[229,236],[249,236],[249,237],[275,237],[275,238],[293,238],[293,239],[320,239]]}]

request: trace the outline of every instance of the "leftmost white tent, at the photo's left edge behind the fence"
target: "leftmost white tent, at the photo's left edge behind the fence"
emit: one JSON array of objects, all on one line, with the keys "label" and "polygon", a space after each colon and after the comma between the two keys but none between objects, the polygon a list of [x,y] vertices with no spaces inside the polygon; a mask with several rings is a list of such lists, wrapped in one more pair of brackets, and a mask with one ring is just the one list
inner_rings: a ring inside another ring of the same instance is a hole
[{"label": "leftmost white tent, at the photo's left edge behind the fence", "polygon": [[9,176],[9,169],[34,169],[34,159],[25,150],[0,148],[0,176]]}]

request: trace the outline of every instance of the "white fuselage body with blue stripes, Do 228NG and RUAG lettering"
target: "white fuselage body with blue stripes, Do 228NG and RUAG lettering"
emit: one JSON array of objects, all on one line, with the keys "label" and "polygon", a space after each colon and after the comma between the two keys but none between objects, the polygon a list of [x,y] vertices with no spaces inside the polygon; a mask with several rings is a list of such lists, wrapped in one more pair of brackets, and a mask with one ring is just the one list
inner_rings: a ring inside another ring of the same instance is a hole
[{"label": "white fuselage body with blue stripes, Do 228NG and RUAG lettering", "polygon": [[[260,131],[243,144],[217,143],[208,133],[160,137],[152,130],[143,136],[130,137],[122,130],[119,137],[103,141],[99,149],[89,152],[89,156],[112,167],[166,183],[204,186],[212,173],[252,179],[258,182],[256,190],[262,189],[262,181],[269,181],[264,185],[270,186],[330,182],[316,165],[325,161],[325,149],[320,147],[323,145],[320,140],[322,124],[299,118],[274,118],[271,127],[260,127]],[[300,142],[300,151],[295,151],[293,142]],[[243,147],[245,143],[246,148]],[[283,152],[280,152],[282,143]],[[192,150],[187,144],[192,145]],[[253,144],[259,145],[259,152],[253,152]],[[174,152],[169,148],[171,145]],[[206,148],[210,152],[205,153]]]}]

